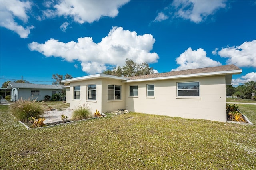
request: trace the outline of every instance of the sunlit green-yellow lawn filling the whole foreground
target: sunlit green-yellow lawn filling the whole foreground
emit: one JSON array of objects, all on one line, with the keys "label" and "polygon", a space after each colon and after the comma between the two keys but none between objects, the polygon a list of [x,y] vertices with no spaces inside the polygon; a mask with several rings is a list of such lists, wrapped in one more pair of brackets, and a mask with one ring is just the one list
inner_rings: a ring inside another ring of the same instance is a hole
[{"label": "sunlit green-yellow lawn filling the whole foreground", "polygon": [[255,125],[128,113],[26,130],[0,106],[0,129],[0,169],[256,169]]}]

